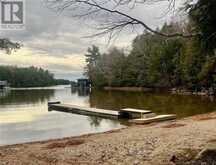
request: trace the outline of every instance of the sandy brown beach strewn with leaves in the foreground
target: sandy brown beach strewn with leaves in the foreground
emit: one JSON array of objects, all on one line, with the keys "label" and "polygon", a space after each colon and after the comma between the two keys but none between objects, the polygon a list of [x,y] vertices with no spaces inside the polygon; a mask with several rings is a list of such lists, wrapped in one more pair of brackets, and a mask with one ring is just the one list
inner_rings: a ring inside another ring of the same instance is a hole
[{"label": "sandy brown beach strewn with leaves in the foreground", "polygon": [[215,126],[216,112],[212,112],[103,133],[0,146],[0,164],[167,165],[173,155],[197,154],[209,141],[216,141]]}]

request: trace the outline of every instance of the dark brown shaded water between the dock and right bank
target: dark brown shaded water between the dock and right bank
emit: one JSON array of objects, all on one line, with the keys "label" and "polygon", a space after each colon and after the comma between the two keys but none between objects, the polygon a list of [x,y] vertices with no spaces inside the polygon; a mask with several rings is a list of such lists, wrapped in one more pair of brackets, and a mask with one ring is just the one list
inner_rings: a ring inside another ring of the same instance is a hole
[{"label": "dark brown shaded water between the dock and right bank", "polygon": [[173,113],[186,117],[216,110],[213,98],[181,96],[169,93],[142,93],[93,90],[90,106],[105,109],[140,108],[159,114]]}]

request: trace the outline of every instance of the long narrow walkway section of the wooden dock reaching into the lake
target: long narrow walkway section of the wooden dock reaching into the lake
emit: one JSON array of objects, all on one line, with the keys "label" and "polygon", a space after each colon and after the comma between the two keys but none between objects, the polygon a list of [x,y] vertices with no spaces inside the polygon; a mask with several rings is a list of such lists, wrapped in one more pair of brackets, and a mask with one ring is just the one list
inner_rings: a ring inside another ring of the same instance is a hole
[{"label": "long narrow walkway section of the wooden dock reaching into the lake", "polygon": [[71,112],[74,114],[87,115],[87,116],[99,116],[105,118],[120,118],[119,111],[88,108],[69,104],[48,104],[50,110]]}]

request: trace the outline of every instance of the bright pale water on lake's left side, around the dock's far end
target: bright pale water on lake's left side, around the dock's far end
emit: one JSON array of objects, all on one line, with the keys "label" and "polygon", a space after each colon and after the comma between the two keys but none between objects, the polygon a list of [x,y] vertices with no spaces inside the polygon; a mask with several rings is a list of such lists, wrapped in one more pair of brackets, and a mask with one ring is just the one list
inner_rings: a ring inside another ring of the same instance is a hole
[{"label": "bright pale water on lake's left side, around the dock's far end", "polygon": [[48,101],[89,106],[89,91],[70,88],[21,89],[0,97],[0,145],[16,144],[122,128],[119,121],[48,112]]}]

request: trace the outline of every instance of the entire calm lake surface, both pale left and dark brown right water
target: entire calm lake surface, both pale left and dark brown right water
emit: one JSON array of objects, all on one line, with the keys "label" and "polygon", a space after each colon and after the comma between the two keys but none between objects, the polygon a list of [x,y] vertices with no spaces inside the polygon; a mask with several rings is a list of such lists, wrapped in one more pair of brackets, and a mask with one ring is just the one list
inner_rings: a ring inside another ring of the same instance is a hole
[{"label": "entire calm lake surface, both pale left and dark brown right water", "polygon": [[78,136],[124,127],[125,122],[48,111],[48,101],[104,109],[140,108],[186,117],[216,110],[216,101],[168,93],[77,91],[65,86],[0,93],[0,145]]}]

